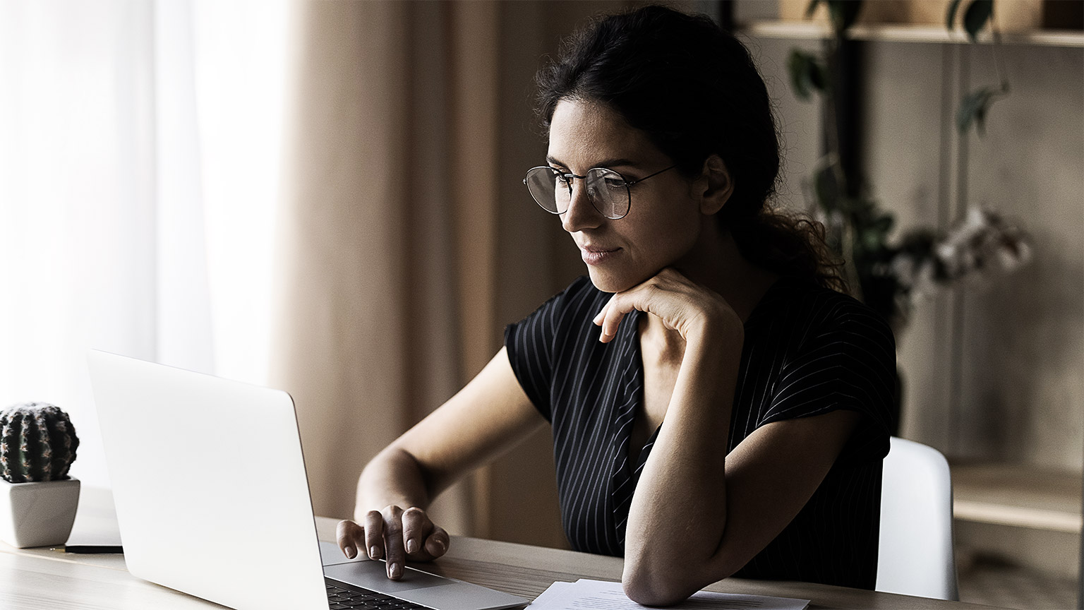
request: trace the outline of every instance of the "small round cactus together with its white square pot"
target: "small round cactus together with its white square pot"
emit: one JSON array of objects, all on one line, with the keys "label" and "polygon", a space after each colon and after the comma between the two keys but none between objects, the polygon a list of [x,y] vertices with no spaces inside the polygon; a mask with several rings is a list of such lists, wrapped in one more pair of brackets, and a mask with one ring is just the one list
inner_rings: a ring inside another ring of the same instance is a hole
[{"label": "small round cactus together with its white square pot", "polygon": [[67,541],[79,505],[68,476],[79,437],[55,405],[26,403],[0,411],[0,541],[17,548]]}]

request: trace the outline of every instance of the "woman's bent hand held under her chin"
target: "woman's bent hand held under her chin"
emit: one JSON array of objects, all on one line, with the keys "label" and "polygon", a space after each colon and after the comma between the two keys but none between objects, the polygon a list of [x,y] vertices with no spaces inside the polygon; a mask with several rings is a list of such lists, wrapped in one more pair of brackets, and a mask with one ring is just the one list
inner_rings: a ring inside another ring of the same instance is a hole
[{"label": "woman's bent hand held under her chin", "polygon": [[741,318],[726,300],[671,267],[629,290],[614,293],[594,319],[602,327],[598,340],[612,341],[618,325],[633,309],[658,316],[668,329],[678,331],[686,342],[699,339],[709,329],[726,328],[724,325],[743,328]]}]

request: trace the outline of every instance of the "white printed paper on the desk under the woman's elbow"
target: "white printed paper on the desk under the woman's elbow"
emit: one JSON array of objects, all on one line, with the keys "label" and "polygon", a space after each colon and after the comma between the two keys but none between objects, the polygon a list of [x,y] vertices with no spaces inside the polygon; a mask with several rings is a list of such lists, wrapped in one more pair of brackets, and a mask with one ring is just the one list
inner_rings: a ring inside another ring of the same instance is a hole
[{"label": "white printed paper on the desk under the woman's elbow", "polygon": [[[698,592],[674,610],[802,610],[809,599]],[[580,580],[554,583],[530,606],[530,610],[642,610],[621,589],[621,583]]]}]

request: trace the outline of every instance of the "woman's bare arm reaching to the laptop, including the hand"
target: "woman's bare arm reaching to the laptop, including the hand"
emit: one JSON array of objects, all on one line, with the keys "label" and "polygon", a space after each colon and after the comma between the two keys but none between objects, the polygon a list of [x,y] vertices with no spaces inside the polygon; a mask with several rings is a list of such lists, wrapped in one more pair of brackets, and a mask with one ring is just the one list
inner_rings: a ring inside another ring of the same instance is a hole
[{"label": "woman's bare arm reaching to the laptop, including the hand", "polygon": [[405,559],[440,557],[448,534],[425,512],[433,498],[545,423],[502,348],[463,390],[365,466],[354,521],[338,524],[339,548],[349,558],[359,548],[371,559],[386,556],[392,580],[402,575]]}]

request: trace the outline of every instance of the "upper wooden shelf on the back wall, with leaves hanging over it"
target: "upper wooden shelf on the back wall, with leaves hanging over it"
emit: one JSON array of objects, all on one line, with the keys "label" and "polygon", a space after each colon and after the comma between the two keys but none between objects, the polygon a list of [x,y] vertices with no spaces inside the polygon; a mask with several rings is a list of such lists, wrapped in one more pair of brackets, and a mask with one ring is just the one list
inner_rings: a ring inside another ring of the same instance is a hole
[{"label": "upper wooden shelf on the back wall, with leaves hanging over it", "polygon": [[[760,38],[826,39],[831,29],[826,24],[814,22],[753,21],[739,24],[738,33]],[[857,24],[849,30],[855,40],[880,40],[888,42],[970,42],[963,31],[949,31],[937,25]],[[989,31],[979,36],[980,43],[991,42]],[[1084,48],[1084,31],[1075,29],[1038,29],[1034,31],[1012,31],[1002,34],[1006,45],[1033,45],[1038,47]]]}]

